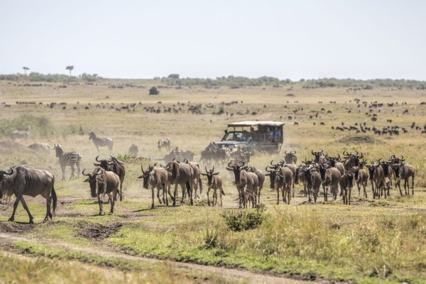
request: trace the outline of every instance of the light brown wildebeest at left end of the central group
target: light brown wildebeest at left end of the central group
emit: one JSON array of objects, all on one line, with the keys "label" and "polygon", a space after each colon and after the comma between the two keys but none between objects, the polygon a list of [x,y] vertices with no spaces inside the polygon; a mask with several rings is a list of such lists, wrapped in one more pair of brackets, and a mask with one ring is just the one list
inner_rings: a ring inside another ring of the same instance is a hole
[{"label": "light brown wildebeest at left end of the central group", "polygon": [[[157,198],[158,202],[162,204],[160,200],[160,190],[163,190],[163,203],[168,206],[168,194],[170,195],[170,187],[169,187],[169,178],[168,171],[165,168],[157,168],[155,165],[153,167],[148,166],[148,170],[144,171],[141,165],[142,175],[138,176],[138,178],[143,178],[143,188],[148,190],[148,187],[151,186],[151,193],[153,202],[151,204],[151,209],[154,208],[154,189],[157,189]],[[171,197],[171,195],[170,195]]]}]

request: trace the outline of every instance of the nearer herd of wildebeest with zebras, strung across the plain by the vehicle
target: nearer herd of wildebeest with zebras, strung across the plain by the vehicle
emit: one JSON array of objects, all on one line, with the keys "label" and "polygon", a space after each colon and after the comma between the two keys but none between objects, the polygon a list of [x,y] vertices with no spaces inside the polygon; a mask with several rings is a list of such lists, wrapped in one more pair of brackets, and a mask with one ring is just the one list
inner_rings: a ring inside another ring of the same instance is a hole
[{"label": "nearer herd of wildebeest with zebras, strung across the plain by the vehicle", "polygon": [[[98,153],[99,147],[107,147],[109,151],[112,150],[114,142],[111,138],[99,138],[92,131],[89,131],[88,134]],[[29,148],[35,151],[50,151],[48,143],[33,143]],[[158,140],[158,149],[163,148],[170,151],[170,139],[160,138]],[[54,150],[62,170],[62,180],[65,180],[66,166],[71,168],[71,179],[79,178],[82,155],[75,151],[64,152],[60,144],[55,144]],[[129,153],[138,153],[135,144],[129,148]],[[232,149],[221,148],[216,143],[210,143],[201,153],[199,163],[204,163],[204,169],[202,169],[200,164],[194,160],[194,153],[181,151],[176,147],[165,155],[164,166],[155,163],[144,170],[141,165],[141,175],[138,178],[143,180],[143,188],[151,189],[151,208],[154,207],[155,190],[157,190],[160,204],[168,206],[168,197],[170,197],[170,203],[175,206],[178,198],[178,185],[182,190],[180,204],[189,200],[189,204],[192,205],[195,199],[200,198],[199,194],[202,194],[202,176],[207,178],[207,204],[216,206],[219,197],[222,206],[222,195],[225,195],[224,182],[219,172],[214,170],[214,165],[218,167],[221,164],[234,175],[234,186],[239,196],[239,208],[256,207],[256,204],[261,202],[261,190],[267,176],[270,180],[271,190],[276,191],[277,204],[280,202],[280,192],[283,202],[290,204],[290,200],[295,197],[295,185],[299,183],[303,185],[303,194],[307,197],[307,202],[317,202],[322,187],[324,202],[328,200],[330,194],[332,200],[337,200],[341,196],[344,204],[351,204],[351,191],[355,185],[358,188],[359,197],[368,197],[366,189],[368,181],[373,198],[390,196],[393,184],[395,189],[398,188],[401,196],[410,195],[410,188],[411,194],[414,194],[415,169],[412,165],[405,163],[402,155],[391,155],[386,159],[371,159],[371,163],[368,164],[364,155],[358,151],[354,153],[344,151],[342,156],[340,154],[329,155],[322,150],[312,150],[311,153],[312,159],[305,158],[302,163],[297,165],[296,152],[284,151],[283,159],[278,163],[271,160],[263,172],[263,170],[249,165],[250,152],[246,148],[239,146]],[[87,176],[84,182],[89,183],[92,197],[97,197],[99,215],[104,214],[102,205],[105,195],[109,198],[107,203],[111,204],[110,213],[112,214],[116,200],[123,200],[125,165],[113,155],[110,155],[109,159],[103,160],[99,160],[98,155],[95,162],[92,172],[86,173],[85,169],[82,170],[82,175]],[[75,167],[77,167],[77,176]],[[400,187],[401,180],[403,180],[404,192]],[[9,221],[13,221],[16,207],[21,202],[28,213],[30,223],[33,223],[33,216],[23,195],[44,197],[47,207],[45,221],[51,219],[58,203],[54,183],[54,175],[47,170],[27,168],[24,165],[0,170],[1,196],[16,196]],[[171,185],[174,185],[173,192],[170,191]],[[209,197],[210,190],[213,190],[212,202]]]}]

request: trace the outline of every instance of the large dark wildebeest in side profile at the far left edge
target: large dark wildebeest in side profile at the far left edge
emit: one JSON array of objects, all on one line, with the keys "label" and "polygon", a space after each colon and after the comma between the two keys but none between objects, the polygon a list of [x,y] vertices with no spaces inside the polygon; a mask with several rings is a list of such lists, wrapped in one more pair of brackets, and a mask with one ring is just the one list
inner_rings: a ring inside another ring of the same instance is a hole
[{"label": "large dark wildebeest in side profile at the far left edge", "polygon": [[[47,170],[31,169],[23,165],[14,166],[9,170],[0,170],[0,197],[4,195],[7,197],[11,197],[11,195],[16,196],[16,200],[13,203],[13,213],[9,221],[15,219],[16,208],[19,202],[21,202],[23,209],[26,210],[30,218],[29,223],[33,224],[33,215],[31,215],[23,199],[23,195],[31,197],[41,195],[44,197],[47,209],[44,222],[48,221],[49,218],[52,219],[53,214],[55,214],[56,204],[58,203],[54,184],[55,177]],[[50,207],[53,210],[53,214],[50,212]]]}]

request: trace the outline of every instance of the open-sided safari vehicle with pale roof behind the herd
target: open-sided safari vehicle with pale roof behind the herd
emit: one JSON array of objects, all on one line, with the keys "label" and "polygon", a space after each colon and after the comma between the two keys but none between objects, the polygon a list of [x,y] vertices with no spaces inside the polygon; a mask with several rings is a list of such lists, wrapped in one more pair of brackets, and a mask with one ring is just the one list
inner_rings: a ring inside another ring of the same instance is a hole
[{"label": "open-sided safari vehicle with pale roof behind the herd", "polygon": [[280,121],[234,122],[228,124],[222,141],[216,144],[221,148],[239,145],[251,152],[279,152],[283,145],[283,125]]}]

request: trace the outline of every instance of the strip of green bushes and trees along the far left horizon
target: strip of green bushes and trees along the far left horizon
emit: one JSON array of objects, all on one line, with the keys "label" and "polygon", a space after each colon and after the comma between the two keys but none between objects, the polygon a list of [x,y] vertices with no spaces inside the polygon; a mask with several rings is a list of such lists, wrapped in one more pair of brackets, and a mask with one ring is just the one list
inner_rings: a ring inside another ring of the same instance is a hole
[{"label": "strip of green bushes and trees along the far left horizon", "polygon": [[[71,70],[70,70],[71,71]],[[11,81],[32,81],[32,82],[94,82],[101,79],[97,74],[83,73],[80,76],[69,76],[64,74],[41,74],[38,72],[31,72],[25,74],[9,74],[0,75],[0,80]]]}]

